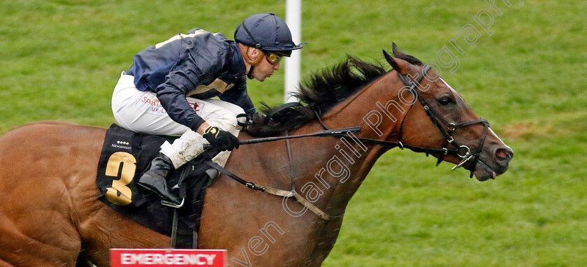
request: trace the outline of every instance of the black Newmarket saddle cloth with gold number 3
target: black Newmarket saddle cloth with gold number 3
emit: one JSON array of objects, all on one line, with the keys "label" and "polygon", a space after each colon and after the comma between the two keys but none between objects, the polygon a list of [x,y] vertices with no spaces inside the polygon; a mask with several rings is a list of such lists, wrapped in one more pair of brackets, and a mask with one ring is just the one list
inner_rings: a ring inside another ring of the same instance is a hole
[{"label": "black Newmarket saddle cloth with gold number 3", "polygon": [[[106,131],[96,175],[100,201],[135,222],[166,236],[172,236],[175,208],[161,205],[159,196],[138,187],[136,180],[159,154],[161,144],[165,140],[172,142],[170,139],[172,138],[136,133],[112,124]],[[204,155],[184,164],[171,172],[166,179],[168,188],[180,182],[179,193],[177,190],[173,193],[185,198],[184,205],[177,209],[178,229],[190,229],[197,233],[200,227],[205,191],[210,181],[205,170],[210,166],[198,163],[217,154],[206,152],[208,150],[203,154],[210,156]]]}]

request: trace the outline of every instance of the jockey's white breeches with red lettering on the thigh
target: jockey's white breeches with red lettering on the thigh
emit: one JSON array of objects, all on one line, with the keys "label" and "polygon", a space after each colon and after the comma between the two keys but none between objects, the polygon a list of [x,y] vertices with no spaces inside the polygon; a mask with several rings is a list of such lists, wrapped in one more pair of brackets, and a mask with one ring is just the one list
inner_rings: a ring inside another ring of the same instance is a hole
[{"label": "jockey's white breeches with red lettering on the thigh", "polygon": [[[236,115],[245,113],[242,108],[218,99],[186,98],[196,114],[208,124],[238,136],[240,126]],[[203,151],[208,143],[199,133],[179,124],[169,117],[153,92],[140,91],[134,85],[134,77],[122,72],[112,96],[112,111],[120,127],[140,133],[180,136],[173,144],[165,142],[161,152],[179,168]],[[214,161],[224,166],[229,152],[220,153]],[[221,157],[222,156],[222,157]]]}]

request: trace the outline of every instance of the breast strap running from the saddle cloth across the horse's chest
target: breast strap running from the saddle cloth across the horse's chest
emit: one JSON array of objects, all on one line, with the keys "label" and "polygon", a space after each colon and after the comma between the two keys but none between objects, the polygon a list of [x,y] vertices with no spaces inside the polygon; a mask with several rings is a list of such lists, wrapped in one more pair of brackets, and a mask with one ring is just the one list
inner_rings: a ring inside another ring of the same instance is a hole
[{"label": "breast strap running from the saddle cloth across the horse's chest", "polygon": [[203,161],[205,164],[208,164],[208,166],[217,169],[219,172],[224,173],[226,176],[229,176],[230,178],[232,178],[233,180],[241,183],[242,185],[245,185],[246,187],[250,188],[250,189],[254,189],[254,190],[258,190],[261,192],[266,192],[268,194],[272,194],[274,196],[283,196],[283,197],[287,197],[287,198],[295,198],[296,201],[298,201],[300,204],[305,205],[305,207],[314,212],[314,214],[318,215],[319,217],[321,217],[322,219],[325,219],[326,221],[329,221],[331,219],[338,219],[342,216],[344,216],[345,214],[342,213],[341,215],[328,215],[326,214],[326,212],[320,210],[318,207],[316,207],[314,204],[312,204],[310,201],[307,201],[306,199],[303,198],[303,196],[300,196],[296,190],[292,190],[292,191],[287,191],[287,190],[282,190],[282,189],[277,189],[277,188],[273,188],[273,187],[265,187],[262,185],[255,185],[254,182],[247,182],[246,180],[243,180],[242,178],[238,177],[237,175],[235,175],[234,173],[231,173],[231,171],[226,170],[226,168],[215,164],[214,162],[212,162],[211,160],[207,159],[205,161]]}]

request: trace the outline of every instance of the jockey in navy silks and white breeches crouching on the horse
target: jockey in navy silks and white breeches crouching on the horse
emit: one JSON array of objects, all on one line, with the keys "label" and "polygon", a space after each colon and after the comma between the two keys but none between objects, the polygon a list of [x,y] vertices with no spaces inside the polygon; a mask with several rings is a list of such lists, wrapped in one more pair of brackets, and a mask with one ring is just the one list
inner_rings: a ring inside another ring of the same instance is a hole
[{"label": "jockey in navy silks and white breeches crouching on the horse", "polygon": [[[287,24],[273,13],[254,14],[234,32],[192,29],[133,57],[114,89],[112,109],[121,127],[180,136],[161,145],[137,184],[180,204],[166,186],[166,175],[203,152],[203,144],[238,148],[237,115],[258,115],[247,94],[247,78],[261,82],[280,68],[283,56],[302,48]],[[212,99],[218,96],[219,99]]]}]

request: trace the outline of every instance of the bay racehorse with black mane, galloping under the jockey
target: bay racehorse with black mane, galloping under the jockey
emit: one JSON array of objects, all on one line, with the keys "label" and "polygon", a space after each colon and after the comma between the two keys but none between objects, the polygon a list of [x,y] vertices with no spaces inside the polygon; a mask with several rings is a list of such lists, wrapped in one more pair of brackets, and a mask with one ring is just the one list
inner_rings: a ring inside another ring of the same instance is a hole
[{"label": "bay racehorse with black mane, galloping under the jockey", "polygon": [[[250,131],[299,135],[359,126],[361,133],[242,145],[226,164],[257,184],[296,190],[327,219],[296,199],[221,175],[205,196],[198,247],[228,250],[226,266],[320,266],[349,200],[391,147],[433,154],[478,180],[507,170],[512,150],[435,71],[395,44],[393,56],[384,56],[393,70],[349,57],[314,74],[301,88],[307,105],[296,116]],[[108,266],[110,248],[169,247],[168,236],[96,200],[105,134],[38,122],[0,137],[0,266]]]}]

